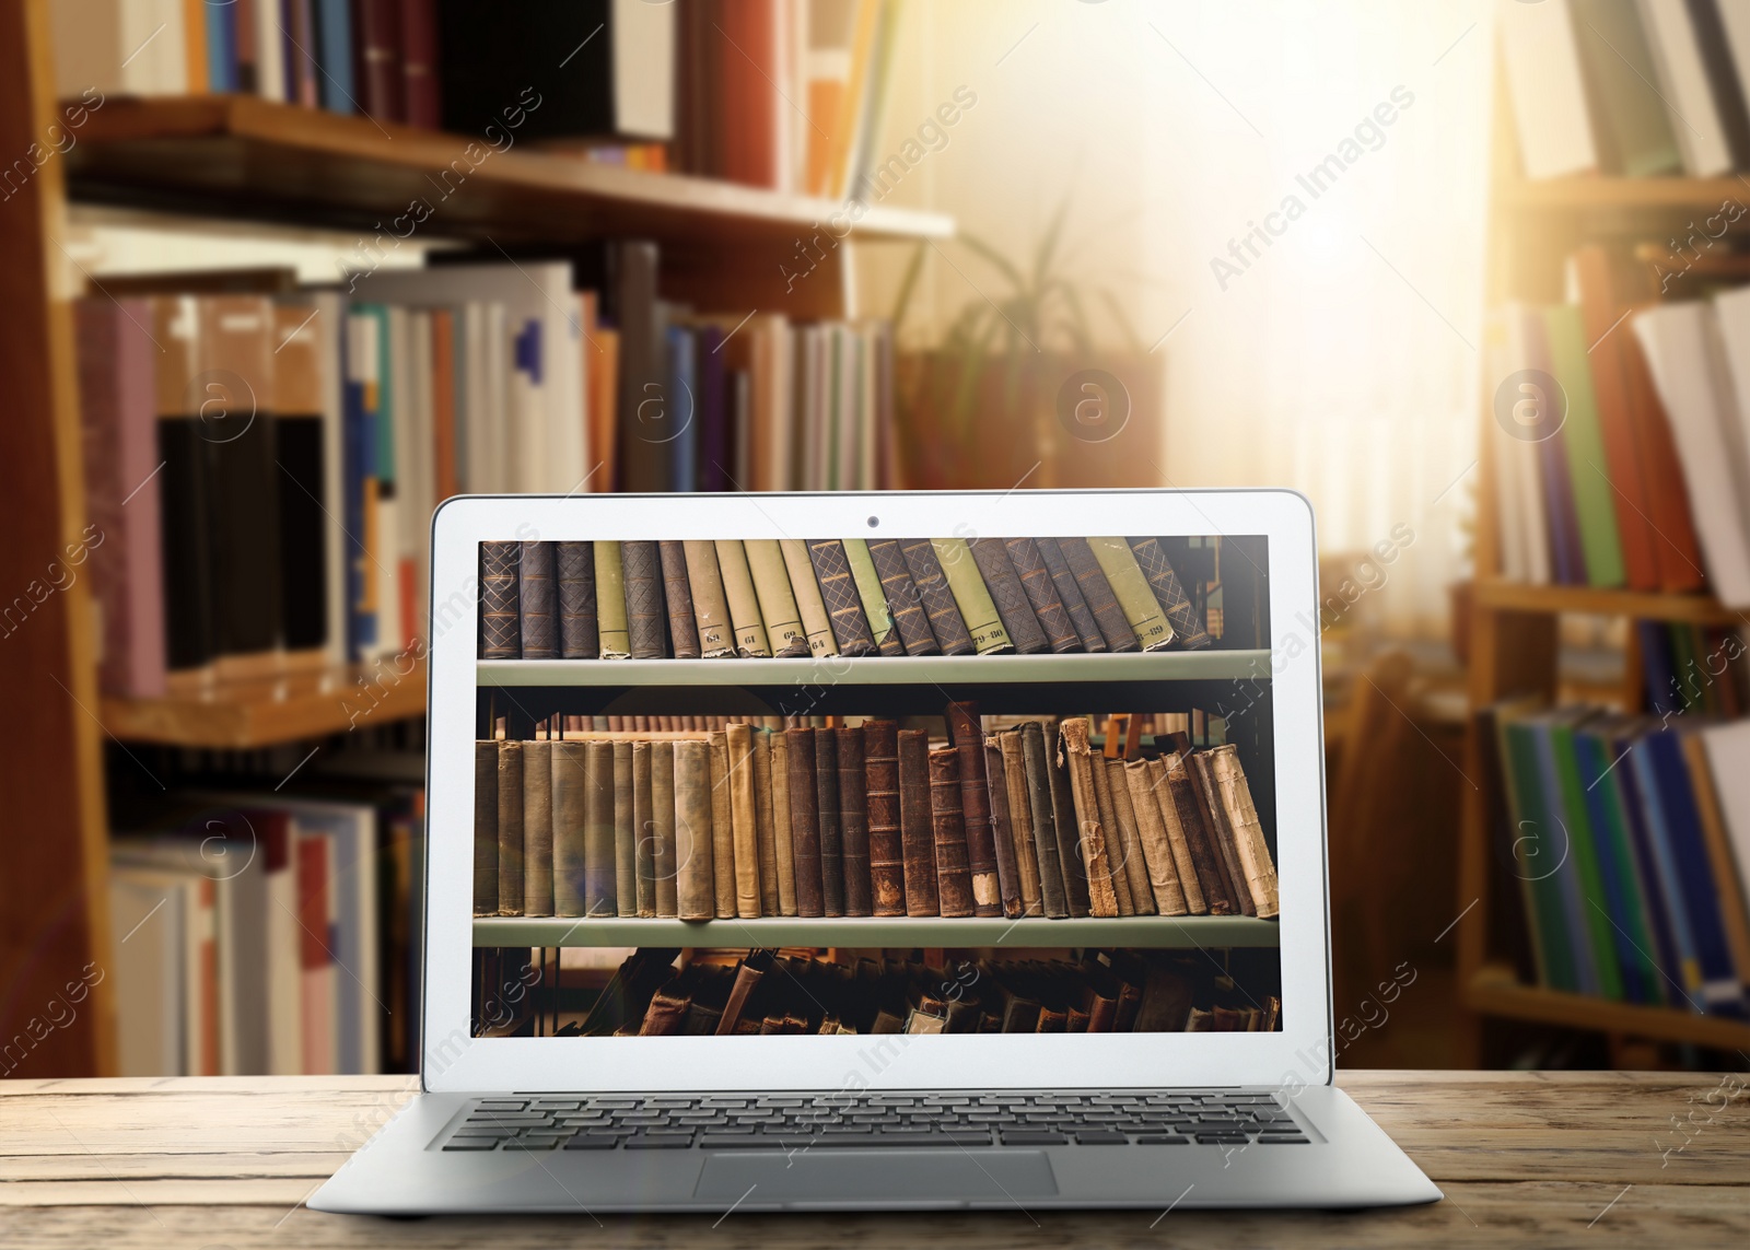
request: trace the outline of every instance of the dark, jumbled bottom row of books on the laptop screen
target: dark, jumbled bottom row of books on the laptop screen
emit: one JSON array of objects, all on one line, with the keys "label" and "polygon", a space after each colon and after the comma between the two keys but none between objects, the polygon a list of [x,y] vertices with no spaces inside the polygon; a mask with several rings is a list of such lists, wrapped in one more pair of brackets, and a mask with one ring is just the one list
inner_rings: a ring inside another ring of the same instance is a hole
[{"label": "dark, jumbled bottom row of books on the laptop screen", "polygon": [[898,952],[640,949],[586,1010],[541,1014],[490,993],[522,980],[527,954],[474,952],[476,1035],[1274,1033],[1283,1010],[1279,972],[1248,951],[929,965]]}]

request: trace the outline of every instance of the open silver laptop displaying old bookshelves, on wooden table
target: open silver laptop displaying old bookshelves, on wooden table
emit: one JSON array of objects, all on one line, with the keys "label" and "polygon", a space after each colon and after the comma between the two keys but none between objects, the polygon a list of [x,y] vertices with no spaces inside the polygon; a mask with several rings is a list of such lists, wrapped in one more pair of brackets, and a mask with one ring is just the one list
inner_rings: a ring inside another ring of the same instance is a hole
[{"label": "open silver laptop displaying old bookshelves, on wooden table", "polygon": [[310,1206],[1438,1199],[1334,1084],[1318,644],[1286,490],[452,499],[420,1091]]}]

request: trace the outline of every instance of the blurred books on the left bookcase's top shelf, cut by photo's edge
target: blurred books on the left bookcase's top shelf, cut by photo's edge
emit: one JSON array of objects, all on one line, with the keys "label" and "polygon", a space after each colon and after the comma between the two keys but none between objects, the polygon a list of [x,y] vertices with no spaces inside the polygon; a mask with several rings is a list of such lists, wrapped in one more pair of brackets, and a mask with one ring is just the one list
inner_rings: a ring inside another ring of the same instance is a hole
[{"label": "blurred books on the left bookcase's top shelf, cut by photo's edge", "polygon": [[49,9],[66,98],[242,93],[833,198],[868,172],[898,18],[894,0]]}]

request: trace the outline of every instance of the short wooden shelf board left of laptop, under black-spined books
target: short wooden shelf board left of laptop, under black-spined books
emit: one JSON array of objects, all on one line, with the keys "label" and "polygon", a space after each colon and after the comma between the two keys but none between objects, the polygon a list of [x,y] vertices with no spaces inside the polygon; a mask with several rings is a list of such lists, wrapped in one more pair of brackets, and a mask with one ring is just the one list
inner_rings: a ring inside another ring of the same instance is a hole
[{"label": "short wooden shelf board left of laptop, under black-spined books", "polygon": [[[369,693],[359,678],[371,681]],[[355,725],[420,716],[425,711],[425,664],[404,678],[345,667],[215,683],[163,699],[102,702],[103,730],[122,742],[158,742],[215,749],[278,746],[306,737],[343,734]]]}]

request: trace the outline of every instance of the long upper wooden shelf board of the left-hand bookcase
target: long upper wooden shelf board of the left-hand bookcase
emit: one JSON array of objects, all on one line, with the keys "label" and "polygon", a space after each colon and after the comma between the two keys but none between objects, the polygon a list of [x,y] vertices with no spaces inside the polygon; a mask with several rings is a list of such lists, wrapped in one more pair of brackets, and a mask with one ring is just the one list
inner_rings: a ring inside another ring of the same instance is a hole
[{"label": "long upper wooden shelf board of the left-hand bookcase", "polygon": [[[480,159],[481,152],[488,156]],[[789,249],[842,208],[831,200],[593,165],[522,144],[499,152],[480,137],[229,95],[110,100],[89,114],[63,159],[74,200],[303,226],[373,229],[382,222],[385,231],[411,201],[425,200],[430,214],[416,224],[420,235]],[[466,179],[452,172],[455,161]],[[852,233],[859,240],[947,238],[954,221],[870,207]]]}]

